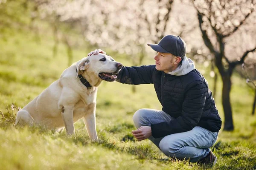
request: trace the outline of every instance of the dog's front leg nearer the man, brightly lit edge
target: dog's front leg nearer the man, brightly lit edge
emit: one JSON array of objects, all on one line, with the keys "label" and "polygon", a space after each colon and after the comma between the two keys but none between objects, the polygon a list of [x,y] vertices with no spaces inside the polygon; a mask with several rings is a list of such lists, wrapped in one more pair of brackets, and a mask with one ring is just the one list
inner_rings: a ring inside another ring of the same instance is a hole
[{"label": "dog's front leg nearer the man, brightly lit edge", "polygon": [[83,117],[84,124],[86,126],[89,137],[95,141],[98,141],[98,135],[96,131],[96,104],[89,105],[88,111],[89,113]]}]

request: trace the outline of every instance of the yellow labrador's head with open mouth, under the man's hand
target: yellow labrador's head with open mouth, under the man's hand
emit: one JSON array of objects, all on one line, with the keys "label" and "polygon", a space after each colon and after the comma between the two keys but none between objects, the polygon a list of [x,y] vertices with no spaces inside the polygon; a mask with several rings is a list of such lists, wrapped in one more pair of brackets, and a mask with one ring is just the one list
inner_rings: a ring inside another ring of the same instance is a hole
[{"label": "yellow labrador's head with open mouth, under the man's hand", "polygon": [[97,54],[85,57],[76,65],[79,74],[95,76],[96,78],[113,82],[116,75],[122,68],[122,64],[116,62],[112,57],[105,54]]}]

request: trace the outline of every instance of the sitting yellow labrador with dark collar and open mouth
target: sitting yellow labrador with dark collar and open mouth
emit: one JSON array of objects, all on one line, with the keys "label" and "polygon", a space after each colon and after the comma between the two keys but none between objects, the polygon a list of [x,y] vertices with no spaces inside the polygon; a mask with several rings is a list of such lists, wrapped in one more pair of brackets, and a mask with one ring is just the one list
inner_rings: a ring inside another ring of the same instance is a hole
[{"label": "sitting yellow labrador with dark collar and open mouth", "polygon": [[15,125],[65,127],[75,135],[74,123],[84,120],[88,135],[98,140],[95,124],[97,88],[113,82],[122,64],[105,54],[84,57],[64,70],[61,77],[17,113]]}]

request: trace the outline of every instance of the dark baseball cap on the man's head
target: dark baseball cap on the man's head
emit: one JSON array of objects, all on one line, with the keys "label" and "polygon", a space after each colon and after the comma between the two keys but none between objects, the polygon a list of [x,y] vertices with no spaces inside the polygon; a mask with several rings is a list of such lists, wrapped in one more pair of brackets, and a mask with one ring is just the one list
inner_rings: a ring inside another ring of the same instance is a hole
[{"label": "dark baseball cap on the man's head", "polygon": [[154,51],[160,53],[171,53],[176,57],[184,59],[186,55],[186,43],[180,36],[166,35],[158,44],[148,44]]}]

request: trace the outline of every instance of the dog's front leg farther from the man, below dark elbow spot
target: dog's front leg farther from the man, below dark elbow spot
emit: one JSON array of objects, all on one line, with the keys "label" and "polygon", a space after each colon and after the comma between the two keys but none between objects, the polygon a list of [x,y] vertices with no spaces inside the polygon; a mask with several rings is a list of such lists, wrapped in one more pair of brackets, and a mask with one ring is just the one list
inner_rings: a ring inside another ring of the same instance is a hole
[{"label": "dog's front leg farther from the man, below dark elbow spot", "polygon": [[65,124],[68,136],[75,136],[75,128],[73,122],[73,106],[63,106],[61,116]]}]

